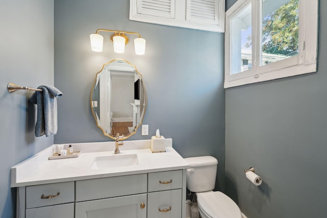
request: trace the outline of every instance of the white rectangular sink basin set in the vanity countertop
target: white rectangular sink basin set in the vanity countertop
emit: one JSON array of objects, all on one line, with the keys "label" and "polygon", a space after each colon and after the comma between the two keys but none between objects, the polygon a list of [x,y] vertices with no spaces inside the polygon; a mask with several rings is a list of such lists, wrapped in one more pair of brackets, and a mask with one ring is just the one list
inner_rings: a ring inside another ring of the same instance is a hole
[{"label": "white rectangular sink basin set in the vanity countertop", "polygon": [[137,154],[112,155],[112,156],[96,157],[91,165],[91,169],[132,166],[137,164],[138,164]]}]

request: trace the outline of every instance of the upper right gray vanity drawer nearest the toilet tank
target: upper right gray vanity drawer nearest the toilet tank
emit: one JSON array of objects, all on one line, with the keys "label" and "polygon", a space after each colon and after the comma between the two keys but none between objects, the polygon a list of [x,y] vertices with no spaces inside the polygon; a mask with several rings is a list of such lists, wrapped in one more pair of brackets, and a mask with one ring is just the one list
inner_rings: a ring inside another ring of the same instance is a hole
[{"label": "upper right gray vanity drawer nearest the toilet tank", "polygon": [[161,191],[182,187],[183,171],[149,173],[148,191]]}]

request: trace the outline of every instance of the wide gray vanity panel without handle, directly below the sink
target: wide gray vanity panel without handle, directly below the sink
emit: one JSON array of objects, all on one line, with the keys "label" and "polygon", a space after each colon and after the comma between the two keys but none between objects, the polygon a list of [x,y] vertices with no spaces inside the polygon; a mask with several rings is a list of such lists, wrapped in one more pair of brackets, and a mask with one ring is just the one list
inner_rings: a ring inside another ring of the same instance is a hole
[{"label": "wide gray vanity panel without handle, directly below the sink", "polygon": [[147,192],[147,174],[76,181],[76,202]]}]

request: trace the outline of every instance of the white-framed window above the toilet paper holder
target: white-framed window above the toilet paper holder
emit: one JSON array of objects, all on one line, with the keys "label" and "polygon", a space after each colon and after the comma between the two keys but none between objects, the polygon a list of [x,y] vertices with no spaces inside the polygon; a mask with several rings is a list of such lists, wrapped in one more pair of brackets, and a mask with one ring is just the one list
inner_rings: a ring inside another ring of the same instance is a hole
[{"label": "white-framed window above the toilet paper holder", "polygon": [[316,71],[318,0],[239,0],[225,20],[225,88]]}]

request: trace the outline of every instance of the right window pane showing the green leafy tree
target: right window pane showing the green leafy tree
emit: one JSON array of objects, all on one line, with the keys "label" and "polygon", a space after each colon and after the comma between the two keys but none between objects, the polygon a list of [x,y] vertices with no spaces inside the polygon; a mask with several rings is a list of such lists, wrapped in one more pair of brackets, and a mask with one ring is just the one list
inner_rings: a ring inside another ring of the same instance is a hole
[{"label": "right window pane showing the green leafy tree", "polygon": [[261,65],[298,55],[298,1],[263,1]]}]

